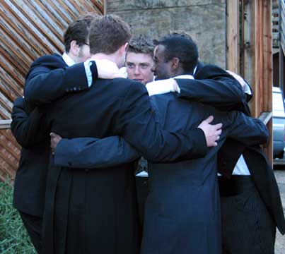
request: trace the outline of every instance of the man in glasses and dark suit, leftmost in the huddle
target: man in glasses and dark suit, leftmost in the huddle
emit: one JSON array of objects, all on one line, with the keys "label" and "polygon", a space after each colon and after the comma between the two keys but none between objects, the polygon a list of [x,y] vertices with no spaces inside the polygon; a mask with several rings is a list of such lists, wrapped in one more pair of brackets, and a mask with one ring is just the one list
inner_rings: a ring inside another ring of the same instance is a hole
[{"label": "man in glasses and dark suit, leftmost in the huddle", "polygon": [[[78,78],[78,73],[83,75],[81,89],[88,88],[84,65],[80,62],[90,57],[88,30],[93,18],[95,16],[82,16],[69,25],[64,35],[65,52],[62,56],[58,54],[44,56],[33,63],[32,66],[38,66],[41,72],[37,79],[31,80],[29,74],[27,75],[25,88],[28,88],[28,98],[35,92],[30,89],[32,86],[37,89],[50,87],[49,90],[45,90],[45,97],[38,96],[40,101],[45,102],[50,102],[54,97],[60,96],[58,91],[54,92],[56,89],[54,87],[60,87],[60,90],[64,92],[66,90],[74,92],[74,79]],[[52,66],[52,70],[47,75],[44,73],[45,69],[40,66],[43,58],[46,59],[47,66]],[[71,65],[75,66],[69,67]],[[56,70],[56,68],[61,69]],[[93,78],[97,78],[97,73],[95,69]],[[19,211],[23,224],[38,252],[41,249],[42,214],[50,154],[50,135],[45,128],[44,120],[42,109],[36,108],[33,102],[27,103],[22,97],[16,99],[12,111],[11,131],[22,146],[22,150],[14,184],[13,205]]]}]

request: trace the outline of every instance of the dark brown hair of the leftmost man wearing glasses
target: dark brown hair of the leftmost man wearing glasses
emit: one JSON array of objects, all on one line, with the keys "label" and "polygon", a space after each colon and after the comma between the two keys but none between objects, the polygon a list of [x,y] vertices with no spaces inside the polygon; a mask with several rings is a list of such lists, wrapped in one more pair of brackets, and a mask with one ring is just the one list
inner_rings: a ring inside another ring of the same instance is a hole
[{"label": "dark brown hair of the leftmost man wearing glasses", "polygon": [[91,21],[98,17],[100,16],[96,13],[87,13],[69,25],[64,33],[64,47],[66,53],[69,52],[72,41],[76,41],[78,46],[82,46],[88,42]]}]

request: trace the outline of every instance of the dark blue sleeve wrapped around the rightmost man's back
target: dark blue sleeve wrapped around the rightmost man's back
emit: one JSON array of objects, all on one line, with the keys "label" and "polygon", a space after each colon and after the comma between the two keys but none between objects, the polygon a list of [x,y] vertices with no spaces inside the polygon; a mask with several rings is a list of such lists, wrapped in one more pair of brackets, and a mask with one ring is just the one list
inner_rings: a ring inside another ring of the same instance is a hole
[{"label": "dark blue sleeve wrapped around the rightmost man's back", "polygon": [[238,140],[246,146],[261,145],[267,143],[269,132],[262,121],[245,116],[240,111],[232,112],[231,126],[228,136]]}]

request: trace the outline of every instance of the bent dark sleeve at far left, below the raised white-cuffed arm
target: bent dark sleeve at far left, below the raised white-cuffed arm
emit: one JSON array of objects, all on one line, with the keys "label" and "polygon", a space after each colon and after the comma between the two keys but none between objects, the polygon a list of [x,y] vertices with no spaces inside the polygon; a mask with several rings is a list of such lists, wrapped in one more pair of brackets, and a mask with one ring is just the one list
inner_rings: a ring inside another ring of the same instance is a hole
[{"label": "bent dark sleeve at far left, below the raised white-cuffed arm", "polygon": [[12,110],[11,131],[22,147],[33,147],[44,140],[47,131],[44,130],[43,121],[44,114],[39,108],[36,107],[28,114],[23,97],[16,99]]}]

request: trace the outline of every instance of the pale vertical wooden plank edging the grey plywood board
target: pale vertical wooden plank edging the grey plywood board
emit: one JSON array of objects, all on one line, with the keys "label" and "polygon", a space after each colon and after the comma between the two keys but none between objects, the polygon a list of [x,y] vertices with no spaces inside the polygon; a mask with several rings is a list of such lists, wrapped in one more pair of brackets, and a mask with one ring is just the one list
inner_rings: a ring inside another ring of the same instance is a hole
[{"label": "pale vertical wooden plank edging the grey plywood board", "polygon": [[226,11],[226,68],[239,73],[239,1],[227,1]]}]

